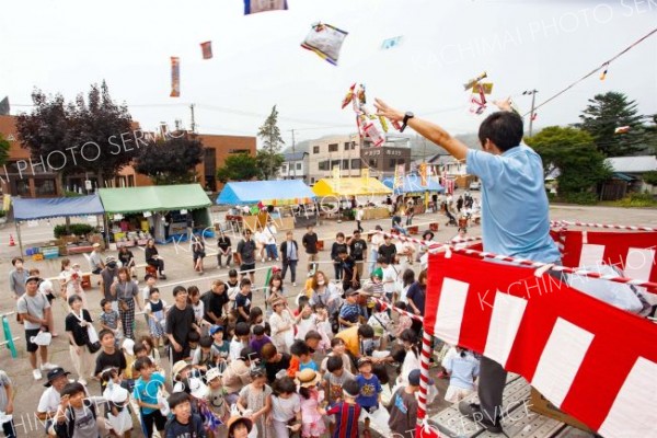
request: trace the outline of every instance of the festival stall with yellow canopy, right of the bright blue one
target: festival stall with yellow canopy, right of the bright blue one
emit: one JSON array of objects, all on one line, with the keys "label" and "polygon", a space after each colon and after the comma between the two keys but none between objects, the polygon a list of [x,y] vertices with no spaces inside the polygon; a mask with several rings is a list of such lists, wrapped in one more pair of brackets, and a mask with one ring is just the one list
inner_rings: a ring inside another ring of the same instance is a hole
[{"label": "festival stall with yellow canopy, right of the bright blue one", "polygon": [[322,178],[312,191],[318,195],[322,210],[332,211],[337,204],[343,208],[365,206],[365,220],[383,219],[390,216],[388,207],[374,206],[374,197],[391,195],[392,191],[379,180],[368,176]]}]

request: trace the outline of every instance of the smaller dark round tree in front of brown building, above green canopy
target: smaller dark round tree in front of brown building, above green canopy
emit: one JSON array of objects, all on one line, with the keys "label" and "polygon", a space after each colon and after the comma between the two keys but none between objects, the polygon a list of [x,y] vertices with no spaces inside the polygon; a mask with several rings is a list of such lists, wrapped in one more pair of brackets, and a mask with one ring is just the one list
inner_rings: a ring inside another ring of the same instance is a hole
[{"label": "smaller dark round tree in front of brown building, above green canopy", "polygon": [[187,184],[196,181],[196,165],[203,161],[201,141],[186,132],[150,138],[139,149],[135,170],[148,175],[157,185]]}]

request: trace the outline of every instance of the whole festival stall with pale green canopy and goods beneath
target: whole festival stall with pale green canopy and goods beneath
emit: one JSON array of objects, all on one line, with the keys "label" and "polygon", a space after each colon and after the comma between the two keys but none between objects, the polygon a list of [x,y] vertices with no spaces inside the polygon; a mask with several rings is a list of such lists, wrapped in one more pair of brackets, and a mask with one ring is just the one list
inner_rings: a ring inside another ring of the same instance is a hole
[{"label": "whole festival stall with pale green canopy and goods beneath", "polygon": [[185,241],[191,221],[195,234],[215,235],[211,201],[198,184],[101,188],[99,195],[117,246],[146,244],[149,234],[158,243]]}]

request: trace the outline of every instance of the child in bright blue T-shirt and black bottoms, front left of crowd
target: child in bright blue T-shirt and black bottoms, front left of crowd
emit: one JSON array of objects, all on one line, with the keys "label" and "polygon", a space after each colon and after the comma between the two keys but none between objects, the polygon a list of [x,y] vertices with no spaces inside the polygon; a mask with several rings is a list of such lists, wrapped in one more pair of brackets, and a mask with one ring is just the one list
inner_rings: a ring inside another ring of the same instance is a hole
[{"label": "child in bright blue T-shirt and black bottoms, front left of crowd", "polygon": [[141,411],[141,422],[147,438],[153,436],[153,426],[162,435],[166,425],[166,418],[160,412],[158,404],[158,394],[160,389],[164,388],[164,376],[153,372],[154,369],[149,357],[141,357],[135,362],[135,370],[139,373],[139,379],[135,382],[132,394]]}]

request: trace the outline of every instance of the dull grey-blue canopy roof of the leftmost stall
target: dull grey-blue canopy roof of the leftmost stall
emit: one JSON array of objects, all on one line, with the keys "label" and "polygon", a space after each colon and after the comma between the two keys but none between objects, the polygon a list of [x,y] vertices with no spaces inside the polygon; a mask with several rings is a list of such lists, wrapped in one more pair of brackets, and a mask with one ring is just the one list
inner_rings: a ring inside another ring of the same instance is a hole
[{"label": "dull grey-blue canopy roof of the leftmost stall", "polygon": [[16,221],[69,216],[103,215],[105,209],[99,195],[74,198],[13,198],[13,212]]}]

